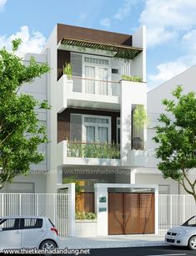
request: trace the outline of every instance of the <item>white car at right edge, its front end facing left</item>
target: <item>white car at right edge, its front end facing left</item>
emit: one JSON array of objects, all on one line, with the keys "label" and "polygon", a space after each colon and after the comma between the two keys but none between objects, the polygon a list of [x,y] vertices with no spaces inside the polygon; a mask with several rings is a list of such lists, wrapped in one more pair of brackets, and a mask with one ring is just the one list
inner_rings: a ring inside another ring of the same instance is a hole
[{"label": "white car at right edge, its front end facing left", "polygon": [[188,246],[196,250],[196,216],[189,218],[179,227],[170,228],[165,235],[165,242],[177,246]]}]

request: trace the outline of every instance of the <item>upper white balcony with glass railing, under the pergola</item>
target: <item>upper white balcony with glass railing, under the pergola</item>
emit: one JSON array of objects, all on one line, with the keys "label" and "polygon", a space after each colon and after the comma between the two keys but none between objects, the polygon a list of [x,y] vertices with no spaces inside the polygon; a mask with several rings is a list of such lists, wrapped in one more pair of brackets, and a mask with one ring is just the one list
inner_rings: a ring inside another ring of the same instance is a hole
[{"label": "upper white balcony with glass railing, under the pergola", "polygon": [[58,113],[66,108],[92,108],[98,110],[119,110],[119,82],[88,79],[82,77],[58,80]]}]

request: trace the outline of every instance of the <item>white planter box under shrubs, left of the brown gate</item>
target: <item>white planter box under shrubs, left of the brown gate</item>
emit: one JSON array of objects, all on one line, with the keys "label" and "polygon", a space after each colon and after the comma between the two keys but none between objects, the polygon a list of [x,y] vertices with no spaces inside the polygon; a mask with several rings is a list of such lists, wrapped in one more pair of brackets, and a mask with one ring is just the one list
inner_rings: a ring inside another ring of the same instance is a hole
[{"label": "white planter box under shrubs, left of the brown gate", "polygon": [[76,220],[76,237],[95,237],[97,229],[97,220]]}]

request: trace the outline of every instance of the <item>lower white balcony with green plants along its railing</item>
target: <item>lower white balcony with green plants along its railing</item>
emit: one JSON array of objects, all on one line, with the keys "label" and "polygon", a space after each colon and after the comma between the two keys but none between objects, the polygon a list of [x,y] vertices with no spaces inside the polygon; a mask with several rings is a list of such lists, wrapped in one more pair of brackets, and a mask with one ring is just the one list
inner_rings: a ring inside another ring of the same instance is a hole
[{"label": "lower white balcony with green plants along its railing", "polygon": [[115,144],[61,141],[58,166],[120,166],[120,146]]}]

